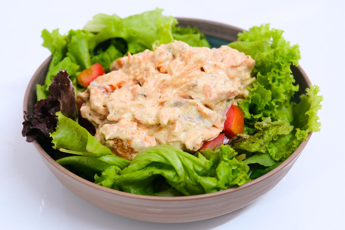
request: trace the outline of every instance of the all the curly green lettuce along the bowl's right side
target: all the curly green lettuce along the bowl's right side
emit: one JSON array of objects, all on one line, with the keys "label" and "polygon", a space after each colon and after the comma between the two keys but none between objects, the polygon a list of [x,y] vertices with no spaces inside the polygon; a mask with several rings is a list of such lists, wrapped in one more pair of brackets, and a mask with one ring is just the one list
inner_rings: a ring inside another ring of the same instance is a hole
[{"label": "all the curly green lettuce along the bowl's right side", "polygon": [[[298,45],[290,46],[282,37],[283,32],[270,29],[269,24],[254,26],[248,32],[239,33],[238,41],[228,44],[256,62],[253,88],[239,103],[245,117],[245,131],[255,134],[233,144],[238,151],[256,153],[252,160],[247,159],[248,164],[272,167],[262,161],[263,154],[270,155],[274,161],[284,161],[306,140],[308,132],[320,131],[317,111],[322,107],[323,97],[317,95],[318,86],[306,89],[307,93],[300,96],[300,103],[290,103],[298,91],[290,65],[298,65],[300,54]],[[267,160],[268,156],[265,158]]]}]

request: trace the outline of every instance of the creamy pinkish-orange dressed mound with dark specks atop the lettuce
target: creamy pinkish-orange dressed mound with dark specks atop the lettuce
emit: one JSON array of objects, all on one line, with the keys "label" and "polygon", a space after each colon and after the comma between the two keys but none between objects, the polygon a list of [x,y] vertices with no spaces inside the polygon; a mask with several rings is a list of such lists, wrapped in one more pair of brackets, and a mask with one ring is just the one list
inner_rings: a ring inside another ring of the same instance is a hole
[{"label": "creamy pinkish-orange dressed mound with dark specks atop the lettuce", "polygon": [[156,144],[197,151],[224,128],[231,103],[248,95],[255,61],[228,46],[162,44],[119,58],[78,97],[95,137],[131,160]]}]

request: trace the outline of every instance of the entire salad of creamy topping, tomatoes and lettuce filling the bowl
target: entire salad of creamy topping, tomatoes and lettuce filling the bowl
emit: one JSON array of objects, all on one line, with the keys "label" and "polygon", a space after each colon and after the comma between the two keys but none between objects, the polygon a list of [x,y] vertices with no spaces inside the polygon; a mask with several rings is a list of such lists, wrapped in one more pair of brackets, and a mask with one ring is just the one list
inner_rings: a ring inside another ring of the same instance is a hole
[{"label": "entire salad of creamy topping, tomatoes and lettuce filling the bowl", "polygon": [[190,196],[273,170],[320,131],[319,87],[298,95],[299,46],[269,24],[210,49],[161,9],[42,31],[52,53],[23,137],[101,186]]}]

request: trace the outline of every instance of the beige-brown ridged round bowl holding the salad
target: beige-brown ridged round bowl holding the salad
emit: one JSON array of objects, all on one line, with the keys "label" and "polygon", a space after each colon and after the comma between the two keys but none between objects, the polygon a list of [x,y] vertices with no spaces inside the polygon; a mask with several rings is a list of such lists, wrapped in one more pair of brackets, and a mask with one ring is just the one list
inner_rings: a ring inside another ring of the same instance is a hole
[{"label": "beige-brown ridged round bowl holding the salad", "polygon": [[[237,33],[243,31],[236,27],[205,20],[178,18],[178,21],[181,26],[197,26],[206,36],[229,42],[235,41]],[[50,60],[51,57],[42,63],[28,85],[24,97],[25,111],[33,111],[33,105],[36,102],[36,84],[43,83]],[[292,71],[296,83],[300,87],[299,93],[305,93],[305,89],[311,84],[307,75],[299,66],[292,66]],[[56,178],[70,191],[94,206],[136,220],[179,223],[221,216],[242,208],[262,196],[283,179],[296,162],[311,135],[312,132],[286,161],[264,176],[237,188],[189,197],[151,197],[102,187],[78,177],[60,166],[43,150],[37,140],[33,144]]]}]

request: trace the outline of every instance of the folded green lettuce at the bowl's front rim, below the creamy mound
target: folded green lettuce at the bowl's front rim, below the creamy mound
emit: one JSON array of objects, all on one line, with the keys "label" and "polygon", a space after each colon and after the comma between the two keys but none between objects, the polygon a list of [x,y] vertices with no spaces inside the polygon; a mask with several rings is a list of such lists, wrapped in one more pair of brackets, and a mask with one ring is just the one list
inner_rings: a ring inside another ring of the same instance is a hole
[{"label": "folded green lettuce at the bowl's front rim, below the creamy mound", "polygon": [[95,175],[95,183],[149,195],[153,191],[150,187],[152,181],[161,175],[177,191],[189,196],[220,191],[250,181],[243,156],[236,157],[237,153],[229,146],[221,146],[212,152],[210,150],[204,155],[209,159],[218,158],[217,166],[203,153],[191,155],[170,145],[150,147],[141,151],[124,170],[110,166],[101,176]]}]

